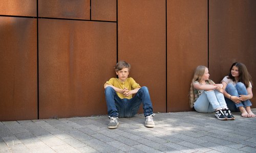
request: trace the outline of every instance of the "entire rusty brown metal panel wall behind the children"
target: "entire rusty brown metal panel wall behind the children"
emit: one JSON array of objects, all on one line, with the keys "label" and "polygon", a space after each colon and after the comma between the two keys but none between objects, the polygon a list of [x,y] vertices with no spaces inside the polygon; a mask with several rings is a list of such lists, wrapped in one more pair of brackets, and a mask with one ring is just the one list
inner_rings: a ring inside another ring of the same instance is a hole
[{"label": "entire rusty brown metal panel wall behind the children", "polygon": [[190,111],[196,66],[220,82],[240,61],[256,78],[255,3],[3,0],[0,120],[106,114],[103,84],[118,60],[132,64],[155,112]]}]

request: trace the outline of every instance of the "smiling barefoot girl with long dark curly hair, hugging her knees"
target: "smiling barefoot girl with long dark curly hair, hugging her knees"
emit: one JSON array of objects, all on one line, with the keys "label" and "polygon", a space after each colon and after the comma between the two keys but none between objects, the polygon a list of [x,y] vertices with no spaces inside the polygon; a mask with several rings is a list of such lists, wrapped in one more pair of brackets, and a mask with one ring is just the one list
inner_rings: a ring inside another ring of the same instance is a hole
[{"label": "smiling barefoot girl with long dark curly hair, hugging her knees", "polygon": [[225,101],[231,111],[241,112],[243,117],[255,117],[251,111],[252,81],[243,63],[233,63],[229,74],[221,81],[224,89]]}]

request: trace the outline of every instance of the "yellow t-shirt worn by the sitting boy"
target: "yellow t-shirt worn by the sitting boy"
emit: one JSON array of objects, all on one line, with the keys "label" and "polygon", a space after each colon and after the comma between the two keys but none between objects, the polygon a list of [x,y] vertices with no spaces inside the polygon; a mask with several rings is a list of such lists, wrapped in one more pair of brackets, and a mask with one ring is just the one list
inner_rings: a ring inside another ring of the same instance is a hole
[{"label": "yellow t-shirt worn by the sitting boy", "polygon": [[[138,83],[136,83],[133,78],[127,78],[124,82],[120,82],[118,80],[118,78],[111,78],[105,84],[112,85],[112,86],[117,87],[119,89],[124,89],[124,87],[125,87],[125,88],[127,88],[127,90],[133,90],[133,89],[136,89],[136,88],[141,88],[140,85]],[[133,95],[130,95],[130,96],[126,97],[121,93],[118,93],[118,92],[116,92],[116,93],[121,99],[123,99],[123,98],[131,99],[133,97]]]}]

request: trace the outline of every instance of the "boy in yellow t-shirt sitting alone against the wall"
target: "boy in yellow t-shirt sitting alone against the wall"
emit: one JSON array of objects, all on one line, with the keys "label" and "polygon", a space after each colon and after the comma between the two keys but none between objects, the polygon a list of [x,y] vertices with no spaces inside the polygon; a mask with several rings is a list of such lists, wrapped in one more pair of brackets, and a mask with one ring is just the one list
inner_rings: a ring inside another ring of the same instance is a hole
[{"label": "boy in yellow t-shirt sitting alone against the wall", "polygon": [[[115,66],[118,78],[111,78],[104,84],[106,106],[110,123],[109,129],[117,128],[118,117],[133,117],[137,114],[140,104],[143,104],[145,126],[154,127],[153,108],[147,87],[140,87],[133,78],[128,78],[131,65],[119,61]],[[133,94],[135,96],[133,97]]]}]

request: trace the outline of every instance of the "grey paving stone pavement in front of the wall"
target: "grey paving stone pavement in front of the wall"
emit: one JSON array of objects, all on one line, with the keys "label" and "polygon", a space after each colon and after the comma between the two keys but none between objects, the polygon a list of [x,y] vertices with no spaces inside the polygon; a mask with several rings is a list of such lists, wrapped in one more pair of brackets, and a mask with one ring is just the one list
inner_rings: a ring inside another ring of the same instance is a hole
[{"label": "grey paving stone pavement in front of the wall", "polygon": [[138,114],[112,130],[108,116],[2,121],[0,152],[256,152],[256,118],[233,115],[157,113],[147,128]]}]

